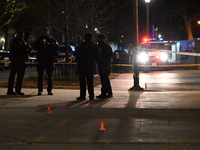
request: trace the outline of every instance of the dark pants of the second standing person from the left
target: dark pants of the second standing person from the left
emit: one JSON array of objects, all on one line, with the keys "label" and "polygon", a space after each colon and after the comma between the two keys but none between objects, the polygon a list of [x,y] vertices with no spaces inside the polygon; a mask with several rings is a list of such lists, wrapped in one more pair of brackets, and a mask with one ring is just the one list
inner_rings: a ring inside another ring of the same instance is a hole
[{"label": "dark pants of the second standing person from the left", "polygon": [[40,64],[38,63],[37,66],[37,72],[38,72],[38,84],[37,84],[37,88],[38,88],[38,92],[43,92],[43,79],[44,79],[44,72],[46,70],[46,74],[47,74],[47,92],[51,93],[52,88],[53,88],[53,70],[54,70],[54,65],[53,63],[43,63]]}]

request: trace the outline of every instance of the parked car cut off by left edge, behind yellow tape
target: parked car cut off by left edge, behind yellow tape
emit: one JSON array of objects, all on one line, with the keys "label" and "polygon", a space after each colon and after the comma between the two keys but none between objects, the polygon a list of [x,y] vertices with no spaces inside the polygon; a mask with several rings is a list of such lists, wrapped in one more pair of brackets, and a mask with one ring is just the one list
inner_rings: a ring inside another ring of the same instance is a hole
[{"label": "parked car cut off by left edge, behind yellow tape", "polygon": [[0,50],[0,70],[10,68],[10,52],[6,50]]}]

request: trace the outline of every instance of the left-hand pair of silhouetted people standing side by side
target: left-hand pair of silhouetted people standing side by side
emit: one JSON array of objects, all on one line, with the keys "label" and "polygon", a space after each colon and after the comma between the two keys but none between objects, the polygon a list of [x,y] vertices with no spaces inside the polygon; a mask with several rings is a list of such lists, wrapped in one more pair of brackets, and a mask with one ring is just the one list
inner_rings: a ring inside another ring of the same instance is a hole
[{"label": "left-hand pair of silhouetted people standing side by side", "polygon": [[[16,36],[10,42],[10,61],[11,69],[8,79],[7,95],[24,95],[21,92],[22,82],[24,79],[26,61],[28,60],[28,54],[32,48],[37,51],[37,73],[38,73],[38,95],[42,95],[43,92],[43,77],[46,71],[47,74],[47,92],[48,95],[53,95],[53,70],[54,62],[58,56],[59,45],[58,42],[49,35],[49,29],[44,28],[42,35],[36,39],[32,47],[29,47],[24,40],[24,32],[22,30],[16,33]],[[17,75],[15,92],[14,81]]]}]

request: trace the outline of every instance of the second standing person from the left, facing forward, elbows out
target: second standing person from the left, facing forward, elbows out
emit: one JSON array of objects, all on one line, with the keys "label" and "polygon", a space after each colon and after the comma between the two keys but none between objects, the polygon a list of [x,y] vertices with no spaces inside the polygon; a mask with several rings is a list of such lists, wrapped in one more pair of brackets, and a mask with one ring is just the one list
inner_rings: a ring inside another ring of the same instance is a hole
[{"label": "second standing person from the left, facing forward, elbows out", "polygon": [[38,72],[38,95],[43,92],[44,72],[47,74],[47,93],[53,95],[53,70],[54,62],[57,60],[59,45],[57,41],[49,35],[49,29],[44,28],[43,34],[33,43],[33,49],[37,51],[37,72]]}]

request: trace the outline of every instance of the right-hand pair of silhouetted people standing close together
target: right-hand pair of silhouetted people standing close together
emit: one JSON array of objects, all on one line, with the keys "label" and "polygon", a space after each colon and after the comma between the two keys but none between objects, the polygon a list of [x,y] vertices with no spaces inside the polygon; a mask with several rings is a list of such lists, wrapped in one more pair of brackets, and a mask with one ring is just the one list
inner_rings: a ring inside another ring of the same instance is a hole
[{"label": "right-hand pair of silhouetted people standing close together", "polygon": [[[80,96],[77,100],[86,99],[86,85],[88,87],[89,99],[94,99],[93,78],[98,68],[101,80],[101,94],[97,98],[113,97],[113,92],[109,80],[112,65],[112,49],[105,42],[104,35],[98,35],[97,45],[92,42],[92,34],[85,35],[85,41],[81,43],[75,51],[77,60],[77,74],[80,83]],[[96,65],[97,64],[97,65]]]}]

